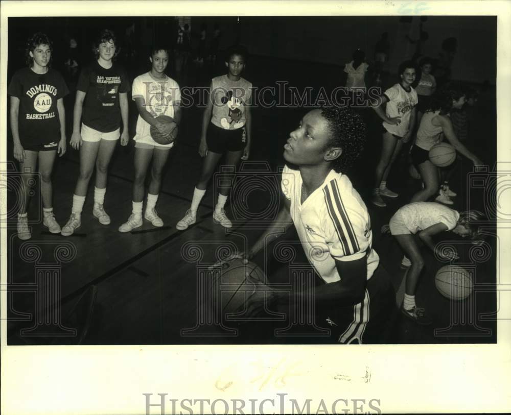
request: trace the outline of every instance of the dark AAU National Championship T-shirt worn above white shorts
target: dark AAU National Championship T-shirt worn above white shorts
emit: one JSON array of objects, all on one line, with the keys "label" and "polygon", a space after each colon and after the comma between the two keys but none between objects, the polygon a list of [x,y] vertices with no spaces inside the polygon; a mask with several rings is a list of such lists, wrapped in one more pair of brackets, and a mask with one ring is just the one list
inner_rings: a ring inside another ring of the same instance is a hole
[{"label": "dark AAU National Championship T-shirt worn above white shorts", "polygon": [[119,128],[119,94],[130,89],[123,67],[114,63],[111,68],[105,69],[96,61],[80,72],[76,89],[86,93],[82,111],[83,124],[102,133]]}]

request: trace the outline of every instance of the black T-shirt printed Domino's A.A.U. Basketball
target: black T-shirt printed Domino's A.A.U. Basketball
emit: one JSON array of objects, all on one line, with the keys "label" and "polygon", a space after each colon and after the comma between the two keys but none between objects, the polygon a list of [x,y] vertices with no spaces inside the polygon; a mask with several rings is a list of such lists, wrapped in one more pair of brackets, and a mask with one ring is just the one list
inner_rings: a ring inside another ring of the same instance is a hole
[{"label": "black T-shirt printed Domino's A.A.U. Basketball", "polygon": [[30,68],[20,69],[12,77],[7,93],[19,99],[21,145],[58,141],[60,120],[57,100],[69,93],[59,72],[49,68],[45,74],[36,74]]}]

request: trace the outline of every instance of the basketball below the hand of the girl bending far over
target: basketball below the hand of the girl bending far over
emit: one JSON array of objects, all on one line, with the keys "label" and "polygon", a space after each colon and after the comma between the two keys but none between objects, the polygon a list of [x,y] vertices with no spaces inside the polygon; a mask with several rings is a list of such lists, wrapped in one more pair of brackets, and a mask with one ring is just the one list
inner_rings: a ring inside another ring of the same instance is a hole
[{"label": "basketball below the hand of the girl bending far over", "polygon": [[446,265],[435,276],[436,289],[451,300],[466,299],[474,288],[470,273],[457,265]]}]

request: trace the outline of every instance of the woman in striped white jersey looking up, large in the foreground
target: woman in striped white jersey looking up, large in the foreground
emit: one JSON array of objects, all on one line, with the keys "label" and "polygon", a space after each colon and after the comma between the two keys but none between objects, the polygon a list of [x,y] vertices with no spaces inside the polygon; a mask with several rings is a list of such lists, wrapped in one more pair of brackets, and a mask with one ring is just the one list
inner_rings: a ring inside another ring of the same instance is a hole
[{"label": "woman in striped white jersey looking up, large in the foreground", "polygon": [[[372,247],[370,217],[350,179],[343,174],[358,158],[365,141],[360,115],[350,108],[309,111],[284,146],[282,192],[277,218],[246,254],[250,259],[282,228],[294,224],[309,262],[324,284],[294,293],[291,304],[314,296],[316,323],[328,327],[333,343],[382,343],[382,330],[393,309],[388,275]],[[257,284],[256,284],[257,285]],[[261,287],[263,288],[263,287]],[[282,291],[266,299],[287,304]],[[262,291],[250,298],[249,315],[264,305]],[[289,311],[293,317],[296,311]],[[295,315],[294,315],[295,316]]]}]

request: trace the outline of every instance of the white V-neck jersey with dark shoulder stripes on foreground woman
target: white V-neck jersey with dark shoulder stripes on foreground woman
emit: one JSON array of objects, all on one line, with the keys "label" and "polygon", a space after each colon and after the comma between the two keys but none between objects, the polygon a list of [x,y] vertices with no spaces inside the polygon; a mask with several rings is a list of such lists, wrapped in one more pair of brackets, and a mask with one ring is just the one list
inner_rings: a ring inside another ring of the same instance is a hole
[{"label": "white V-neck jersey with dark shoulder stripes on foreground woman", "polygon": [[282,191],[291,201],[291,218],[307,259],[324,282],[339,281],[335,259],[353,261],[367,255],[367,279],[379,263],[372,248],[370,217],[350,179],[331,170],[303,204],[299,170],[282,172]]}]

